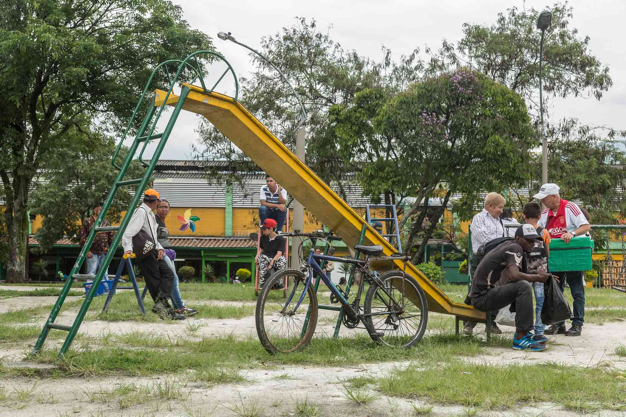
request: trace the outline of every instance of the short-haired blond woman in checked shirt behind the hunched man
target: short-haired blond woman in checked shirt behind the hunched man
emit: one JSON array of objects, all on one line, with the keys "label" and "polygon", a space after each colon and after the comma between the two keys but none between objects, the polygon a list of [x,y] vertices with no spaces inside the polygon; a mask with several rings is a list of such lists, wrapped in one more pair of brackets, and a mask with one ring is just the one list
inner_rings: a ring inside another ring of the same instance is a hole
[{"label": "short-haired blond woman in checked shirt behind the hunched man", "polygon": [[[485,244],[496,238],[501,238],[505,235],[505,228],[500,220],[500,214],[505,207],[505,198],[498,193],[489,193],[485,197],[485,208],[483,211],[476,214],[471,221],[469,230],[471,231],[471,249],[474,254],[478,251],[481,244]],[[471,276],[476,271],[476,265],[471,265],[469,273]],[[495,318],[498,311],[491,312],[491,318]],[[463,322],[463,333],[472,334],[476,326],[475,321]],[[493,333],[502,333],[502,331],[496,326],[496,322],[491,323],[491,331]]]}]

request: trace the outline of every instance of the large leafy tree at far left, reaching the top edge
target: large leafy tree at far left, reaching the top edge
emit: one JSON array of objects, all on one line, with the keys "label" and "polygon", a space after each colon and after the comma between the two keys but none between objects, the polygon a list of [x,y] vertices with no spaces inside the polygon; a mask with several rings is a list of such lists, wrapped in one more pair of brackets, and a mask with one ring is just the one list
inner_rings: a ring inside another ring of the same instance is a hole
[{"label": "large leafy tree at far left, reaching the top edge", "polygon": [[[26,212],[41,164],[76,145],[70,129],[95,131],[96,118],[108,131],[123,131],[156,64],[212,45],[189,28],[179,6],[165,0],[9,0],[0,5],[0,39],[7,280],[19,282]],[[182,79],[194,77],[185,71]],[[165,72],[153,86],[167,89]],[[149,105],[145,101],[140,111],[145,114]]]}]

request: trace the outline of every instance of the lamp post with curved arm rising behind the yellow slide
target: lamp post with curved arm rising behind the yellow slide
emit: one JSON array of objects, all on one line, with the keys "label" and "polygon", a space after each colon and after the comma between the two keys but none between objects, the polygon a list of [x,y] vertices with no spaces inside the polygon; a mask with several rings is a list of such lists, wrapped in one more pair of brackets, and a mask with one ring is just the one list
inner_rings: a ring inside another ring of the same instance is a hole
[{"label": "lamp post with curved arm rising behind the yellow slide", "polygon": [[[285,77],[285,74],[283,74],[282,71],[280,71],[280,69],[276,68],[274,63],[272,63],[272,61],[270,61],[269,58],[265,57],[264,54],[260,53],[254,48],[250,48],[250,46],[247,46],[246,44],[237,42],[237,40],[235,40],[235,38],[232,36],[230,32],[228,33],[220,32],[217,34],[217,37],[222,39],[223,41],[231,41],[240,46],[243,46],[244,48],[247,48],[250,51],[257,54],[258,56],[260,56],[261,59],[263,59],[266,63],[272,66],[272,68],[274,68],[276,72],[280,74],[283,81],[285,81],[285,83],[287,83],[287,85],[291,89],[291,92],[294,93],[295,98],[298,99],[298,103],[300,104],[300,112],[302,113],[300,115],[300,122],[296,126],[298,131],[295,136],[295,154],[297,155],[298,158],[300,158],[302,162],[304,162],[304,147],[305,147],[305,136],[306,136],[306,128],[304,126],[304,123],[307,121],[307,112],[304,109],[302,100],[300,100],[300,97],[298,96],[298,94],[295,93],[293,86],[291,85],[291,83],[289,83],[289,80],[287,79],[287,77]],[[304,206],[302,206],[302,204],[300,204],[299,201],[295,199],[294,199],[294,222],[292,224],[293,224],[292,229],[302,230],[304,228]],[[300,265],[299,265],[300,255],[298,254],[298,246],[299,244],[297,244],[295,241],[295,238],[293,238],[291,241],[291,267],[292,268],[300,268]]]}]

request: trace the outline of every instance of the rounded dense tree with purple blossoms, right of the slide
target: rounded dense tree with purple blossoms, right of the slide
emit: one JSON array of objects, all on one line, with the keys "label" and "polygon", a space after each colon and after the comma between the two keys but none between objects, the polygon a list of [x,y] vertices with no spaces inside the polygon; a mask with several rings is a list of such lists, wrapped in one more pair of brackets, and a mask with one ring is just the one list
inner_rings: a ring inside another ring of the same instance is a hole
[{"label": "rounded dense tree with purple blossoms, right of the slide", "polygon": [[[404,249],[414,260],[422,258],[451,196],[461,195],[455,209],[469,216],[483,189],[529,179],[529,151],[538,145],[523,99],[466,68],[411,84],[377,111],[373,126],[393,138],[393,158],[385,161],[393,171],[384,178],[393,179],[396,194],[416,198],[399,222],[401,229],[411,226]],[[376,181],[377,166],[364,166],[362,184]],[[442,184],[441,206],[424,228],[428,201]],[[422,231],[423,240],[416,241]]]}]

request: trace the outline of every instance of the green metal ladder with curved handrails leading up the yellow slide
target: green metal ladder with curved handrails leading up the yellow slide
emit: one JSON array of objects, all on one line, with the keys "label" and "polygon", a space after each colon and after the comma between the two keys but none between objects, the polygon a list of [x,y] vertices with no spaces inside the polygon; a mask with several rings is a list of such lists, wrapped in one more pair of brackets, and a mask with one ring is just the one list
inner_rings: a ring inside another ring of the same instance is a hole
[{"label": "green metal ladder with curved handrails leading up the yellow slide", "polygon": [[[204,58],[205,61],[221,60],[224,63],[226,63],[228,66],[228,68],[223,72],[222,76],[217,80],[217,82],[210,89],[207,89],[205,85],[205,80],[203,78],[204,71],[200,67],[200,63],[198,63],[198,56],[200,55],[208,56]],[[178,66],[177,72],[175,73],[173,77],[170,74],[170,71],[168,70],[168,65],[172,65],[172,64],[176,64]],[[150,108],[148,109],[148,112],[145,118],[143,118],[143,122],[141,123],[141,126],[136,133],[133,144],[131,144],[130,149],[128,149],[128,153],[126,154],[126,158],[124,159],[123,164],[121,164],[121,166],[118,166],[115,163],[115,159],[117,158],[118,153],[120,152],[121,146],[124,143],[126,136],[128,135],[129,131],[131,131],[131,128],[133,126],[133,121],[135,121],[135,117],[139,109],[141,108],[141,103],[143,102],[143,99],[145,99],[146,93],[148,92],[148,88],[150,88],[150,84],[155,78],[157,71],[162,68],[163,70],[165,70],[165,73],[167,75],[167,81],[169,82],[169,89],[168,89],[167,95],[165,96],[165,99],[163,100],[163,104],[159,106],[158,113],[156,114],[156,117],[154,118],[154,115],[156,112],[156,106],[155,106],[155,100],[152,99]],[[61,346],[61,350],[59,351],[59,358],[61,358],[68,351],[69,346],[74,340],[74,337],[76,336],[76,333],[78,332],[78,328],[80,328],[80,325],[83,322],[83,319],[85,318],[87,309],[89,308],[91,301],[93,300],[93,297],[96,294],[96,289],[98,289],[98,286],[100,286],[100,281],[102,280],[104,274],[106,273],[108,266],[111,262],[111,259],[113,259],[113,255],[115,254],[115,249],[118,248],[120,244],[120,241],[126,229],[126,226],[128,225],[128,222],[130,221],[130,218],[133,215],[134,209],[136,208],[137,204],[140,201],[140,197],[141,197],[141,194],[143,194],[143,190],[146,189],[146,186],[148,185],[150,176],[156,166],[156,163],[159,157],[161,156],[161,153],[163,151],[163,148],[165,147],[165,144],[167,143],[167,139],[169,138],[170,133],[172,133],[172,129],[174,128],[174,124],[176,123],[178,114],[180,114],[180,110],[183,108],[185,99],[187,99],[187,96],[190,92],[190,88],[188,88],[188,86],[182,87],[180,96],[178,98],[176,106],[174,107],[172,115],[170,116],[167,126],[165,127],[165,130],[162,133],[154,133],[154,130],[156,128],[156,123],[158,122],[158,119],[163,113],[163,109],[165,109],[165,106],[167,106],[168,98],[170,97],[170,94],[172,94],[173,88],[176,86],[178,78],[180,77],[181,73],[183,73],[183,71],[185,71],[185,76],[187,76],[187,78],[191,78],[188,75],[195,74],[195,78],[193,79],[193,81],[195,81],[195,79],[199,79],[200,84],[203,90],[205,91],[205,93],[212,93],[212,91],[215,89],[215,87],[217,87],[220,81],[222,81],[222,79],[228,73],[228,71],[230,71],[233,78],[235,79],[234,101],[237,101],[237,98],[239,96],[239,82],[237,81],[237,76],[235,75],[235,71],[233,70],[232,66],[230,66],[230,63],[228,63],[228,61],[222,55],[216,53],[215,51],[197,51],[193,54],[190,54],[189,56],[187,56],[187,58],[183,59],[182,61],[178,59],[170,59],[156,66],[154,71],[152,71],[152,74],[150,75],[150,78],[148,79],[148,82],[146,83],[145,88],[143,89],[143,93],[141,94],[139,102],[137,103],[135,107],[135,111],[133,111],[131,119],[128,122],[128,125],[126,126],[126,131],[124,132],[122,138],[120,139],[120,143],[115,149],[115,153],[111,157],[111,164],[113,164],[113,166],[116,169],[118,169],[118,171],[120,172],[118,173],[115,179],[115,182],[111,185],[109,193],[106,196],[105,203],[103,204],[102,211],[100,212],[98,219],[96,219],[96,223],[94,224],[93,228],[91,228],[90,234],[87,237],[87,240],[85,244],[83,245],[83,248],[81,249],[80,254],[78,255],[78,259],[76,259],[76,263],[74,263],[72,271],[71,273],[69,273],[68,279],[66,280],[66,283],[63,286],[63,289],[61,290],[61,294],[59,295],[59,298],[56,300],[56,303],[54,304],[54,307],[50,315],[48,316],[48,319],[46,320],[46,324],[44,324],[43,330],[41,331],[41,334],[39,335],[39,339],[37,340],[37,343],[34,346],[33,354],[38,353],[41,350],[41,348],[43,348],[43,344],[46,341],[46,338],[48,337],[48,333],[50,329],[58,329],[58,330],[64,330],[68,332],[68,336],[65,339],[63,346]],[[148,126],[150,126],[150,128],[148,128]],[[158,145],[156,146],[153,156],[151,157],[149,162],[143,161],[142,156],[146,149],[146,146],[148,146],[148,143],[150,141],[153,141],[156,139],[160,139],[160,140],[158,142]],[[143,148],[141,148],[141,153],[139,154],[138,159],[140,163],[143,164],[143,166],[146,168],[143,173],[143,176],[137,179],[125,180],[124,176],[126,174],[126,169],[128,169],[128,166],[130,166],[130,163],[133,160],[133,157],[135,156],[137,149],[142,143],[143,143]],[[113,202],[113,199],[115,198],[115,194],[117,190],[120,187],[133,186],[133,185],[137,186],[136,191],[135,191],[135,196],[133,196],[133,200],[131,201],[130,206],[128,207],[128,210],[126,211],[126,215],[124,216],[124,219],[122,220],[120,226],[107,226],[107,227],[100,226],[102,224],[102,221],[105,219],[106,212],[108,211],[109,207],[111,206],[111,203]],[[111,250],[108,251],[108,253],[105,256],[105,259],[103,259],[103,265],[100,268],[100,271],[98,271],[95,277],[93,275],[85,276],[85,275],[78,274],[78,271],[80,271],[83,261],[85,261],[87,252],[91,247],[91,243],[93,242],[93,239],[95,238],[96,233],[103,232],[103,231],[115,231],[116,234],[115,234],[115,237],[113,238],[113,242],[111,243]],[[71,284],[73,283],[74,278],[78,278],[78,277],[93,278],[93,284],[91,285],[91,289],[85,297],[85,301],[83,301],[83,305],[81,306],[80,311],[78,312],[78,316],[76,316],[76,319],[74,319],[74,323],[71,326],[55,324],[54,321],[56,320],[56,317],[58,316],[59,311],[61,310],[61,306],[63,306],[63,302],[65,301],[65,298],[69,293]]]}]

